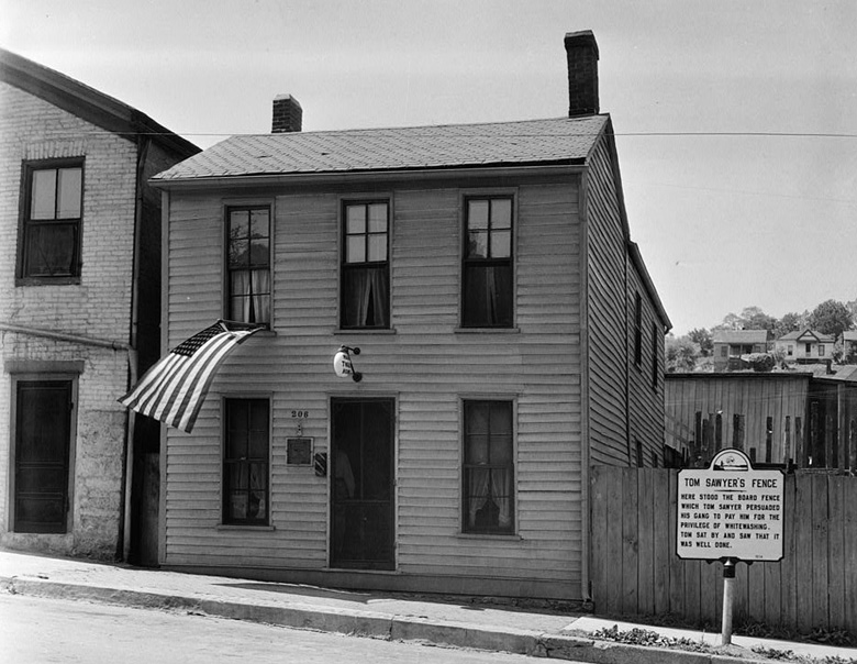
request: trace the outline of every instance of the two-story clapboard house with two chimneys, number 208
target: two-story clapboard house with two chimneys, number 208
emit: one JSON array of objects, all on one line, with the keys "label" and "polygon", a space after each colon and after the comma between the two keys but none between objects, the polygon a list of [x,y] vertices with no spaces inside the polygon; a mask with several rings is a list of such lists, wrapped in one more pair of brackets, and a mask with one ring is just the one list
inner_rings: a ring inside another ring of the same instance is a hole
[{"label": "two-story clapboard house with two chimneys, number 208", "polygon": [[[164,430],[163,565],[586,596],[588,468],[663,457],[670,323],[630,239],[594,37],[565,44],[568,117],[302,133],[282,96],[271,134],[154,178],[164,347],[266,327],[192,433]],[[342,346],[359,381],[334,370]]]}]

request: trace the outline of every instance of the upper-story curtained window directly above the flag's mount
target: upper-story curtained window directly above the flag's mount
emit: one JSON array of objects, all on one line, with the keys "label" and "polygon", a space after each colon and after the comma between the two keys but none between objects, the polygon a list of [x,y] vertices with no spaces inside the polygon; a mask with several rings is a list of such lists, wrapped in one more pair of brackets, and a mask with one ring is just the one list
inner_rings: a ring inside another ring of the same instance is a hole
[{"label": "upper-story curtained window directly above the flag's mount", "polygon": [[226,318],[242,323],[270,323],[270,208],[227,211]]}]

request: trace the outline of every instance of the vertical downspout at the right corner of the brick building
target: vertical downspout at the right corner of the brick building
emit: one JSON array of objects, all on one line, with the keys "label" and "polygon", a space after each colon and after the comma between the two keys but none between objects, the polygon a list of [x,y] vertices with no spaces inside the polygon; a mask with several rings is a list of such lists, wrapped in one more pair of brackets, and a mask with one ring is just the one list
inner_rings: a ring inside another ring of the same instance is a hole
[{"label": "vertical downspout at the right corner of the brick building", "polygon": [[[129,333],[129,345],[131,352],[129,353],[129,389],[131,386],[137,383],[137,329],[140,325],[140,252],[141,252],[141,236],[143,225],[143,181],[144,169],[146,166],[146,157],[148,156],[148,146],[151,139],[138,135],[137,136],[137,167],[136,167],[136,181],[135,181],[135,200],[134,200],[134,250],[133,261],[131,265],[131,330]],[[132,495],[134,483],[134,429],[136,424],[136,412],[129,409],[127,411],[127,427],[125,429],[125,454],[123,462],[123,511],[122,519],[120,521],[120,530],[122,534],[122,553],[120,560],[127,562],[131,555],[131,521],[132,521]]]}]

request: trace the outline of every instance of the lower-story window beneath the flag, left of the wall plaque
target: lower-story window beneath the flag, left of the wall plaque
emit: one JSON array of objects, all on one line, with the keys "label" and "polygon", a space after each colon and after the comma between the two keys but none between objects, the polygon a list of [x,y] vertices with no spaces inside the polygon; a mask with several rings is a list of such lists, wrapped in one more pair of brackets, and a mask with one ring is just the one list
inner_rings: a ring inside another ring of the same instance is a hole
[{"label": "lower-story window beneath the flag, left of the wall plaque", "polygon": [[269,519],[268,399],[226,399],[223,522],[267,525]]}]

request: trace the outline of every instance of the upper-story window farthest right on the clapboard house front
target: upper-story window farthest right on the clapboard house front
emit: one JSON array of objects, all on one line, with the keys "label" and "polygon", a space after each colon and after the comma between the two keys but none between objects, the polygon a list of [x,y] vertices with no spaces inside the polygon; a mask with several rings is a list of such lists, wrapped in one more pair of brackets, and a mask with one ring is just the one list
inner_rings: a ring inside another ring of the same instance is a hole
[{"label": "upper-story window farthest right on the clapboard house front", "polygon": [[468,198],[463,269],[465,328],[512,327],[512,197]]}]

